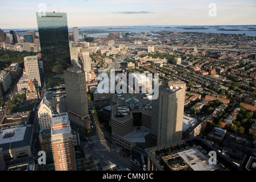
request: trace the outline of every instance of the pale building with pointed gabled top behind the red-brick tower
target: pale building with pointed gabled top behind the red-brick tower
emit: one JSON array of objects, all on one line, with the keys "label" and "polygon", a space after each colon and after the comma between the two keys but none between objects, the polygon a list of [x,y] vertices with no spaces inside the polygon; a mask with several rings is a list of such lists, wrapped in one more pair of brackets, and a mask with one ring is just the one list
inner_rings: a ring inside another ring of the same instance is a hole
[{"label": "pale building with pointed gabled top behind the red-brick tower", "polygon": [[38,106],[38,122],[40,130],[51,129],[52,107],[46,98]]}]

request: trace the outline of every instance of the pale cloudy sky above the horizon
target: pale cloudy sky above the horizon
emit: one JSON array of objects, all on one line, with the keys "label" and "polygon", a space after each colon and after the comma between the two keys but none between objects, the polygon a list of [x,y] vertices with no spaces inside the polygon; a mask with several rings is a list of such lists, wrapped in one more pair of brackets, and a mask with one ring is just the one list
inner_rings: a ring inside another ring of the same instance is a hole
[{"label": "pale cloudy sky above the horizon", "polygon": [[44,10],[68,27],[256,24],[255,0],[0,0],[0,28],[36,28]]}]

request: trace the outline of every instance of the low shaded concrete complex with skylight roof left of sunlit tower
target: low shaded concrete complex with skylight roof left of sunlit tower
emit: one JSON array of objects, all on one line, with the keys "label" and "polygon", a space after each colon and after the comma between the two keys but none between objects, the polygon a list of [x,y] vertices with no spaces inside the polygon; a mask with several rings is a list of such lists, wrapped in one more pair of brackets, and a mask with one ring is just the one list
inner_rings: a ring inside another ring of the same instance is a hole
[{"label": "low shaded concrete complex with skylight roof left of sunlit tower", "polygon": [[112,98],[112,142],[131,150],[145,143],[150,134],[151,101],[143,94],[114,94]]}]

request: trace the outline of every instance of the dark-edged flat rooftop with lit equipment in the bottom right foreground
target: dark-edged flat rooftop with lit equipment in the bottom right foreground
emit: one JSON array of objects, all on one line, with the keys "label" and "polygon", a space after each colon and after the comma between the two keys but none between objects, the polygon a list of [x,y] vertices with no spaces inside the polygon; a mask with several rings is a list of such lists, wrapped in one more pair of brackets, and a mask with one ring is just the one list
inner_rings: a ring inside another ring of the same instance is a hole
[{"label": "dark-edged flat rooftop with lit equipment in the bottom right foreground", "polygon": [[[242,171],[200,137],[146,148],[147,171]],[[208,155],[216,153],[216,163]]]}]

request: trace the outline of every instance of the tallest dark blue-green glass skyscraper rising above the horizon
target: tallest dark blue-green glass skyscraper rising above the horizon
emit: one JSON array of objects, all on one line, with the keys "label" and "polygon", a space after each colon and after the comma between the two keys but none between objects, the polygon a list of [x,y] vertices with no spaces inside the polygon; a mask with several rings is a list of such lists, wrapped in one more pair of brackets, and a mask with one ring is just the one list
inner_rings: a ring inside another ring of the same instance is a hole
[{"label": "tallest dark blue-green glass skyscraper rising above the horizon", "polygon": [[46,89],[64,84],[63,71],[70,67],[66,13],[36,13]]}]

